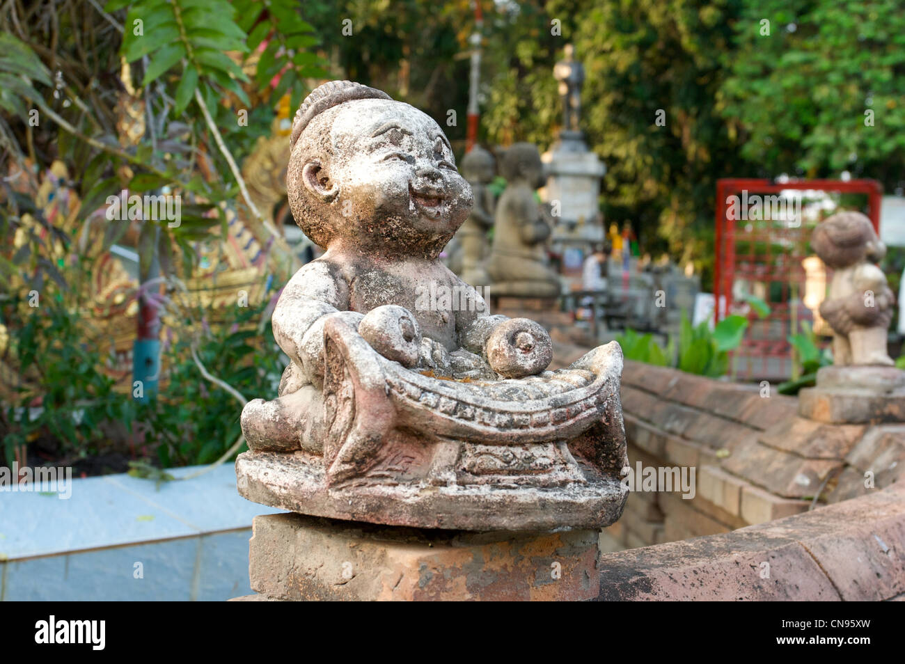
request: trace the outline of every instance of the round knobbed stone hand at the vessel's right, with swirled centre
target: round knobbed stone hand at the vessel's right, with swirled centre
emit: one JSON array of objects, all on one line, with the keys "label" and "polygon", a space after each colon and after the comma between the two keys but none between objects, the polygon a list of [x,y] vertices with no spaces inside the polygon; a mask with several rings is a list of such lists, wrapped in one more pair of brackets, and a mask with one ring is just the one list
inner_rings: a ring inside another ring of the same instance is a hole
[{"label": "round knobbed stone hand at the vessel's right, with swirled centre", "polygon": [[553,359],[547,330],[528,318],[511,318],[493,329],[487,339],[487,361],[507,378],[539,374]]}]

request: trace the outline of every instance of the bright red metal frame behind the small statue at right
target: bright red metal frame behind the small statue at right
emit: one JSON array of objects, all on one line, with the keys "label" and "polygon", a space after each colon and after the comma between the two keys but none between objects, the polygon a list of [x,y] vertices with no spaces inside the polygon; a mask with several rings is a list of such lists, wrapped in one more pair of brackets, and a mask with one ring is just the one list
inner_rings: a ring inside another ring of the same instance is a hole
[{"label": "bright red metal frame behind the small statue at right", "polygon": [[[716,202],[716,247],[714,266],[714,321],[717,322],[721,318],[725,318],[732,307],[732,286],[734,280],[738,277],[739,267],[736,259],[736,230],[738,227],[737,220],[729,220],[729,202],[728,198],[732,194],[740,194],[743,190],[747,190],[748,194],[778,194],[787,190],[815,190],[824,192],[838,192],[841,194],[866,194],[868,216],[871,218],[874,229],[880,232],[880,208],[881,196],[883,193],[882,185],[875,180],[850,180],[843,182],[842,180],[798,180],[794,182],[774,182],[765,179],[751,178],[726,178],[717,181],[717,202]],[[804,232],[804,227],[802,228]],[[770,232],[772,233],[772,232]],[[770,237],[773,237],[771,234]],[[780,242],[781,233],[776,232],[777,242]],[[800,235],[799,235],[800,238]],[[748,261],[743,261],[745,269],[751,267],[751,256]],[[788,268],[792,270],[792,268]],[[795,268],[797,270],[797,268]],[[792,270],[792,271],[795,271]],[[744,271],[744,270],[742,270]],[[725,306],[720,307],[720,299],[725,298]],[[778,317],[777,315],[777,318]],[[750,330],[749,330],[750,332]],[[751,342],[755,343],[755,342]],[[763,342],[761,342],[763,343]],[[786,351],[776,349],[765,349],[765,355],[783,356]],[[787,357],[787,354],[786,354]]]}]

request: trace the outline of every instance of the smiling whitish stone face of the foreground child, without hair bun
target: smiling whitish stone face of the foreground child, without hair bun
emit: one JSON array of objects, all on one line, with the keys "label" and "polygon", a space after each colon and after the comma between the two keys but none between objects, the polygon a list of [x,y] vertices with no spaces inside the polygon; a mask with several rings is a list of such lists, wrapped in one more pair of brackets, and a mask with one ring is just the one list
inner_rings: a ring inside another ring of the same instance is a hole
[{"label": "smiling whitish stone face of the foreground child, without hair bun", "polygon": [[306,156],[317,166],[301,170],[300,185],[329,204],[334,239],[357,249],[438,255],[467,218],[472,190],[437,123],[392,100],[348,101],[319,120],[306,134],[328,130],[330,154]]}]

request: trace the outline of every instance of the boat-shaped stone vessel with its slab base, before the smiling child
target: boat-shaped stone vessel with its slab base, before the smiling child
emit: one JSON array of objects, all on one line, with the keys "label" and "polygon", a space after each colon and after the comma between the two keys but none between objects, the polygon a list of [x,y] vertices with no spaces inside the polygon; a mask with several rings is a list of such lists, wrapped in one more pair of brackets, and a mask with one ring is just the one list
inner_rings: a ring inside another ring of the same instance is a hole
[{"label": "boat-shaped stone vessel with its slab base, before the smiling child", "polygon": [[294,512],[467,530],[603,527],[627,465],[622,351],[518,379],[455,380],[324,327],[323,454],[246,452],[240,493]]}]

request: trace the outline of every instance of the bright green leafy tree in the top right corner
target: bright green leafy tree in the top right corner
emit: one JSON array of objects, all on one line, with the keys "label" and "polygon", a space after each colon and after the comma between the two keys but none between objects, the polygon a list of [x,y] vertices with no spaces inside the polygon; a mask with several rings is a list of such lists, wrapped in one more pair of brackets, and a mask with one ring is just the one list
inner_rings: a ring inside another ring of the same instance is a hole
[{"label": "bright green leafy tree in the top right corner", "polygon": [[735,24],[719,92],[742,155],[773,173],[905,186],[900,0],[765,0]]}]

